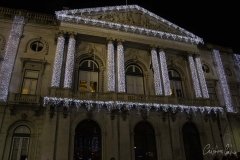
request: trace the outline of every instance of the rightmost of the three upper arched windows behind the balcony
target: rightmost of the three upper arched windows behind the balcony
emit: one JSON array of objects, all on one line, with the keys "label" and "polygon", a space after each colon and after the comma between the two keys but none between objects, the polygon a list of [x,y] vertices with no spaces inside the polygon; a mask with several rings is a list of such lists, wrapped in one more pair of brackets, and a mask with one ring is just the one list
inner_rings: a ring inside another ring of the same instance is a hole
[{"label": "rightmost of the three upper arched windows behind the balcony", "polygon": [[171,94],[176,97],[184,97],[183,96],[183,87],[182,87],[182,78],[180,74],[171,69],[168,71],[170,86],[171,86]]}]

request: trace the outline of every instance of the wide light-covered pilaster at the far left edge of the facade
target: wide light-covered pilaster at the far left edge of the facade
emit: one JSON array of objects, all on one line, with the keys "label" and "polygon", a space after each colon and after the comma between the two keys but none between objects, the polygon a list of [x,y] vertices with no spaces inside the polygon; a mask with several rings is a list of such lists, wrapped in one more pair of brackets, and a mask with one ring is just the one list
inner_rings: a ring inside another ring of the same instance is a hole
[{"label": "wide light-covered pilaster at the far left edge of the facade", "polygon": [[15,16],[12,24],[12,29],[8,37],[2,66],[0,68],[0,101],[5,102],[8,97],[8,88],[12,76],[15,57],[22,36],[24,27],[24,17]]}]

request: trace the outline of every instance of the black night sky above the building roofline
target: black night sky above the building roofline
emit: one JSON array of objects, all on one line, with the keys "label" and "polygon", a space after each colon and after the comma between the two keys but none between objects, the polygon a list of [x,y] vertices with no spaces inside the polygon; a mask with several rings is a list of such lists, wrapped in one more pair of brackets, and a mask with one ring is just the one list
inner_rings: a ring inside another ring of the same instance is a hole
[{"label": "black night sky above the building roofline", "polygon": [[[202,37],[205,43],[233,48],[240,53],[240,5],[231,0],[127,0]],[[0,0],[0,6],[54,14],[70,9],[125,5],[126,0]]]}]

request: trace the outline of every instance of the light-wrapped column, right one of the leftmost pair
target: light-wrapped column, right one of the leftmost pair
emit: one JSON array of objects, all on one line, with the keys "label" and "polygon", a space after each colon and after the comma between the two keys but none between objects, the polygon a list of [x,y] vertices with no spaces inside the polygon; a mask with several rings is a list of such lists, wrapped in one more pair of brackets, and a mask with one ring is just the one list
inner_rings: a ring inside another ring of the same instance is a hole
[{"label": "light-wrapped column, right one of the leftmost pair", "polygon": [[73,67],[74,67],[74,57],[75,57],[75,46],[76,40],[74,35],[70,35],[68,42],[68,50],[67,50],[67,60],[66,60],[66,68],[65,68],[65,76],[64,76],[64,88],[72,87],[73,80]]}]

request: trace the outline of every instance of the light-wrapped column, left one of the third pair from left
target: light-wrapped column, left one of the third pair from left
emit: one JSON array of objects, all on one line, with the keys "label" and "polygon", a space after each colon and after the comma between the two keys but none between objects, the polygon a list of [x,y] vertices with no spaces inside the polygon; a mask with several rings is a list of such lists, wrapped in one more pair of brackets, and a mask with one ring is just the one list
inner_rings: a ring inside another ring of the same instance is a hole
[{"label": "light-wrapped column, left one of the third pair from left", "polygon": [[158,64],[158,56],[156,49],[151,50],[151,57],[152,57],[152,67],[153,67],[153,77],[154,77],[154,86],[155,86],[155,94],[162,95],[162,84],[161,84],[161,77],[159,71],[159,64]]}]

